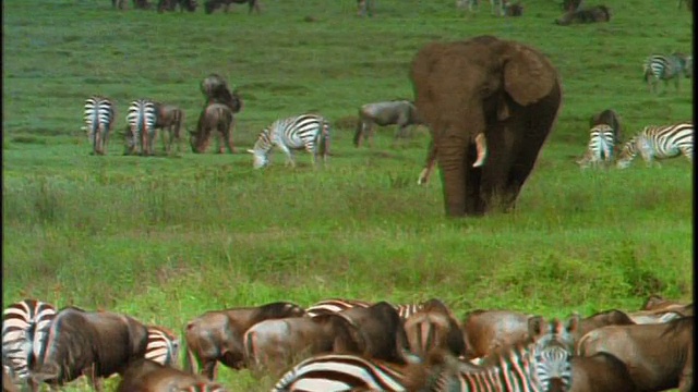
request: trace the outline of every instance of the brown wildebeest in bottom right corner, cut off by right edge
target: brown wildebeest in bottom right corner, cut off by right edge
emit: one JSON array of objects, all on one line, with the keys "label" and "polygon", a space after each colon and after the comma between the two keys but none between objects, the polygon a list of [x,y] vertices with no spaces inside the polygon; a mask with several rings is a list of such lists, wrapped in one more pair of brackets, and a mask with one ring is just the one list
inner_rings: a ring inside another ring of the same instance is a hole
[{"label": "brown wildebeest in bottom right corner, cut off by right edge", "polygon": [[621,359],[643,391],[693,391],[693,317],[658,324],[603,327],[581,338],[580,355],[601,352]]}]

